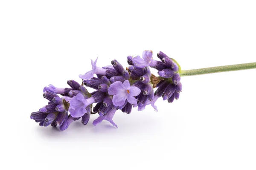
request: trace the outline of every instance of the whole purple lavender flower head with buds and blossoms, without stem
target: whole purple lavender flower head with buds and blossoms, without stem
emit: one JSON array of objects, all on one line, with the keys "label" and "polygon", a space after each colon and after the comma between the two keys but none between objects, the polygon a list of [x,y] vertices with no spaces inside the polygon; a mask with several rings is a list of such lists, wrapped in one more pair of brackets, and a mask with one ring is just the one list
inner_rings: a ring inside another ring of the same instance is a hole
[{"label": "whole purple lavender flower head with buds and blossoms, without stem", "polygon": [[[163,100],[173,102],[179,98],[182,89],[177,62],[163,52],[157,57],[161,61],[153,59],[152,51],[143,51],[142,57],[128,56],[129,67],[126,69],[115,59],[112,65],[105,67],[97,67],[97,59],[91,60],[92,70],[79,75],[81,85],[68,80],[70,88],[45,87],[43,96],[49,101],[48,105],[31,113],[30,118],[40,126],[52,125],[65,130],[80,118],[87,125],[90,115],[95,113],[99,117],[93,125],[107,120],[117,127],[112,120],[117,110],[129,114],[132,108],[138,107],[138,111],[142,111],[146,105],[151,105],[157,111],[157,99],[162,96]],[[151,74],[150,68],[157,69],[159,77]],[[84,85],[95,91],[89,93]]]}]

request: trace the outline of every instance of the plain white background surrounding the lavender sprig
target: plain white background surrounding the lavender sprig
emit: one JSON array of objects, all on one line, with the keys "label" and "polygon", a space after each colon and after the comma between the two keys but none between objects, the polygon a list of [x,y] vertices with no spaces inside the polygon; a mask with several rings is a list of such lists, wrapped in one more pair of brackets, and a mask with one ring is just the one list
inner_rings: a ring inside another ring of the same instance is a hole
[{"label": "plain white background surrounding the lavender sprig", "polygon": [[256,62],[254,0],[0,1],[0,169],[256,169],[256,70],[182,77],[160,99],[97,127],[65,131],[29,119],[44,86],[163,51],[183,70]]}]

